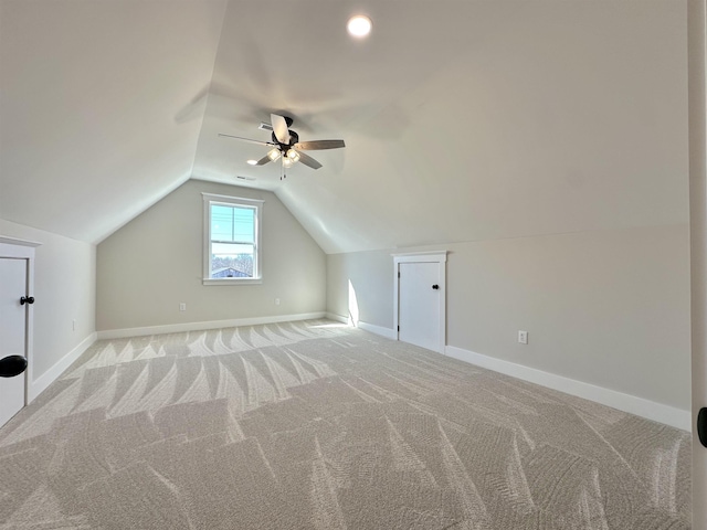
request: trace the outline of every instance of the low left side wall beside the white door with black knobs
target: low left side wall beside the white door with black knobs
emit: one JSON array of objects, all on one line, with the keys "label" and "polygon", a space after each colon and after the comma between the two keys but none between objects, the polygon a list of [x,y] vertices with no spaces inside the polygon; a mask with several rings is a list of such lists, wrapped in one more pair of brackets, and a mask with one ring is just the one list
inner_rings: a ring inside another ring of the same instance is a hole
[{"label": "low left side wall beside the white door with black knobs", "polygon": [[[35,251],[32,293],[36,300],[33,351],[36,381],[53,372],[51,369],[72,352],[80,353],[76,348],[92,341],[96,330],[96,247],[1,219],[0,234],[41,243]],[[76,321],[75,330],[72,320]]]}]

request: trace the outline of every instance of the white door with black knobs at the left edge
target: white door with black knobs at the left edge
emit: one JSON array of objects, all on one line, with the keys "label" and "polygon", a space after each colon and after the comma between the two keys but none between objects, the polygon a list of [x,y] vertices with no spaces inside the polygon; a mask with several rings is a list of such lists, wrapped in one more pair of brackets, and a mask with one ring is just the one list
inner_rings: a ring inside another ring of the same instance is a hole
[{"label": "white door with black knobs at the left edge", "polygon": [[[0,258],[0,359],[25,356],[27,259]],[[0,427],[24,406],[25,374],[0,378]]]}]

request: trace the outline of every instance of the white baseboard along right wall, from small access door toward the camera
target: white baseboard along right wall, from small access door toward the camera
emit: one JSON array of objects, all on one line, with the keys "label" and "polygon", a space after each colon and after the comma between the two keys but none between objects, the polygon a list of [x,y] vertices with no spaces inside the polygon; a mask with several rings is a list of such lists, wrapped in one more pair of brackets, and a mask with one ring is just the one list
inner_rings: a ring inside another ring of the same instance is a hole
[{"label": "white baseboard along right wall, from small access door toward the camera", "polygon": [[604,389],[594,384],[584,383],[555,373],[544,372],[535,368],[524,367],[515,362],[495,359],[493,357],[464,350],[454,346],[445,348],[447,356],[461,361],[486,368],[495,372],[523,379],[531,383],[537,383],[549,389],[558,390],[567,394],[591,400],[602,405],[608,405],[623,412],[629,412],[637,416],[671,425],[683,431],[692,431],[690,411],[684,411],[674,406],[664,405],[654,401],[644,400],[631,394]]}]

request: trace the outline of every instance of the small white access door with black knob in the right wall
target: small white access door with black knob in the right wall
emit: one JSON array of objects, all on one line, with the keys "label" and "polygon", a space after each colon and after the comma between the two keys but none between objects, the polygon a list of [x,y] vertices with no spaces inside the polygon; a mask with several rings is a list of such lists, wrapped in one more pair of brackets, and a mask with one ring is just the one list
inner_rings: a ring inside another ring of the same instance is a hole
[{"label": "small white access door with black knob in the right wall", "polygon": [[398,339],[433,351],[440,351],[442,344],[441,266],[435,262],[400,263],[398,268]]}]

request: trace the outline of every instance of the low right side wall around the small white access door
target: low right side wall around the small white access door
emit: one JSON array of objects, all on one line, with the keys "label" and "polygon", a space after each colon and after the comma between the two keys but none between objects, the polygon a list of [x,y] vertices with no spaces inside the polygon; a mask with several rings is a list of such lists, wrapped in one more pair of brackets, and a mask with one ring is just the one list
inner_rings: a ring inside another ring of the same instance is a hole
[{"label": "low right side wall around the small white access door", "polygon": [[[435,248],[449,346],[689,410],[686,224]],[[392,252],[328,256],[328,311],[347,315],[350,279],[361,321],[392,328]]]}]

